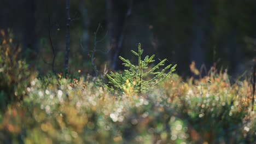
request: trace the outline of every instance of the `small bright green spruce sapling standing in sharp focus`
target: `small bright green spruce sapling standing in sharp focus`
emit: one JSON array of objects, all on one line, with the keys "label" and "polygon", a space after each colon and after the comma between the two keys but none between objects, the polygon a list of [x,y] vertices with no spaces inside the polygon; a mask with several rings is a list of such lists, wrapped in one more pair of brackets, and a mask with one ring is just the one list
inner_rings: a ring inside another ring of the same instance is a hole
[{"label": "small bright green spruce sapling standing in sharp focus", "polygon": [[[119,56],[121,61],[124,62],[123,65],[129,69],[125,70],[123,74],[110,72],[110,74],[107,75],[109,83],[120,91],[126,91],[127,88],[131,87],[133,91],[138,93],[148,92],[151,87],[159,85],[161,82],[169,78],[177,66],[177,64],[175,64],[171,67],[172,64],[169,64],[161,71],[157,71],[160,66],[165,65],[165,62],[167,61],[166,58],[156,64],[153,68],[149,68],[149,64],[155,62],[153,59],[155,55],[151,57],[146,56],[143,61],[143,50],[141,49],[141,44],[138,44],[138,52],[133,50],[131,50],[131,52],[133,55],[138,57],[137,65],[132,64],[128,59]],[[170,71],[165,73],[168,69],[170,69]],[[153,78],[150,78],[152,75]]]}]

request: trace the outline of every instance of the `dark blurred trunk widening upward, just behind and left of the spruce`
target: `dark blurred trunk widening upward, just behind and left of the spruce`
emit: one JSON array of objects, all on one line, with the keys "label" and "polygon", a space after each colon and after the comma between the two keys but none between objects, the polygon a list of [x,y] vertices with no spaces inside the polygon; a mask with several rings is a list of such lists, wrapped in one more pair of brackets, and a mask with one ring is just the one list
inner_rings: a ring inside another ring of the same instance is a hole
[{"label": "dark blurred trunk widening upward, just behind and left of the spruce", "polygon": [[[110,49],[110,64],[112,70],[121,69],[121,61],[118,58],[124,37],[125,20],[129,15],[129,1],[106,0],[108,21],[108,48]],[[131,1],[130,1],[131,2]]]}]

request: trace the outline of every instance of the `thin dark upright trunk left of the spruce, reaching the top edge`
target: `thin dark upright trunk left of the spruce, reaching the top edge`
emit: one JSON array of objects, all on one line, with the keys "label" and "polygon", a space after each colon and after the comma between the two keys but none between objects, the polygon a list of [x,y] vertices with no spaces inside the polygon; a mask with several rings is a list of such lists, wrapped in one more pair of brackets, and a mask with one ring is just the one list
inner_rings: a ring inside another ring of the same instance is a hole
[{"label": "thin dark upright trunk left of the spruce, reaching the top edge", "polygon": [[70,14],[69,14],[70,3],[66,0],[66,53],[65,53],[65,75],[68,74],[68,57],[70,51]]}]

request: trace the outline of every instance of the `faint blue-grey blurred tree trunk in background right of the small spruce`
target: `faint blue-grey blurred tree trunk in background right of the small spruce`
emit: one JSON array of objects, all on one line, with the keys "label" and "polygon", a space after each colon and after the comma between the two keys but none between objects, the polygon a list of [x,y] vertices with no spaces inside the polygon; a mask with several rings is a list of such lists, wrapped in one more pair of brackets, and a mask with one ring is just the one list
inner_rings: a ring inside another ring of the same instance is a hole
[{"label": "faint blue-grey blurred tree trunk in background right of the small spruce", "polygon": [[205,62],[205,37],[207,26],[207,1],[193,1],[192,45],[190,60],[195,61],[197,69]]}]

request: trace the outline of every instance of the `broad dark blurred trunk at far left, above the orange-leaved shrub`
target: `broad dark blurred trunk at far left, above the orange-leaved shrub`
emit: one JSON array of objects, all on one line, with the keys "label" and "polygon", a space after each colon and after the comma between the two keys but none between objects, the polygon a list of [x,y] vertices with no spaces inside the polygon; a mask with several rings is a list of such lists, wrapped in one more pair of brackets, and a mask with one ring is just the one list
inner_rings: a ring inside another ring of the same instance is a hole
[{"label": "broad dark blurred trunk at far left, above the orange-leaved shrub", "polygon": [[23,5],[22,22],[22,51],[28,60],[33,60],[38,52],[36,37],[36,19],[34,0],[25,0]]}]

